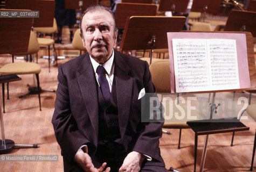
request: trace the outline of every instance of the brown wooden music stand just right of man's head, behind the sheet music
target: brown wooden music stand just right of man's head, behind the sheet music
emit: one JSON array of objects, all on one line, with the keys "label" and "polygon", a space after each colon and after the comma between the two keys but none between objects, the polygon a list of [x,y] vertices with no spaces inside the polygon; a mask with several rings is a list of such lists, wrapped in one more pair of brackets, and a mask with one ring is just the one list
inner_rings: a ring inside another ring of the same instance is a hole
[{"label": "brown wooden music stand just right of man's head, behind the sheet music", "polygon": [[185,17],[133,16],[124,27],[121,50],[168,48],[167,32],[179,32],[185,24]]}]

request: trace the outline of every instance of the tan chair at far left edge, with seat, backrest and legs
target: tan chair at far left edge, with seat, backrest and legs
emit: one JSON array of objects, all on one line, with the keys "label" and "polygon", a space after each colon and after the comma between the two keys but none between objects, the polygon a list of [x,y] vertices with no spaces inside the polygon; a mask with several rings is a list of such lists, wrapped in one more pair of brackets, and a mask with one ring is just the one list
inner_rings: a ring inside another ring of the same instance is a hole
[{"label": "tan chair at far left edge, with seat, backrest and legs", "polygon": [[[29,39],[29,47],[27,52],[25,53],[15,53],[15,55],[31,55],[37,53],[39,51],[39,44],[37,41],[37,35],[34,32],[30,32]],[[17,74],[17,75],[26,75],[26,74],[34,74],[37,78],[37,89],[40,90],[39,85],[39,73],[41,72],[41,67],[37,63],[33,62],[13,62],[5,64],[0,68],[0,75],[8,75],[8,74]],[[9,92],[9,86],[7,87]],[[20,96],[19,96],[20,97]],[[8,94],[9,98],[9,94]],[[21,97],[20,97],[21,98]],[[3,94],[4,99],[4,94]],[[38,91],[38,99],[39,99],[39,107],[41,111],[41,101],[40,101],[40,91]],[[3,101],[4,107],[4,101]]]}]

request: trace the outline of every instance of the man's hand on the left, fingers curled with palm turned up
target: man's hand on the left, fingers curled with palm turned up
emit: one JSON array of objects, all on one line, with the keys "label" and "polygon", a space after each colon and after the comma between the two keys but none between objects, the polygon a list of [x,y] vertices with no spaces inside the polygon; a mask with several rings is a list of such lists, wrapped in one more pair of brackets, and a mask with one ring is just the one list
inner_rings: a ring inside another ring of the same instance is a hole
[{"label": "man's hand on the left, fingers curled with palm turned up", "polygon": [[[82,169],[84,169],[86,172],[102,172],[103,169],[106,167],[107,163],[104,162],[102,166],[98,169],[96,169],[92,163],[91,157],[82,151],[82,149],[79,149],[77,154],[75,154],[75,161],[79,164]],[[105,172],[109,172],[110,168],[106,168]]]}]

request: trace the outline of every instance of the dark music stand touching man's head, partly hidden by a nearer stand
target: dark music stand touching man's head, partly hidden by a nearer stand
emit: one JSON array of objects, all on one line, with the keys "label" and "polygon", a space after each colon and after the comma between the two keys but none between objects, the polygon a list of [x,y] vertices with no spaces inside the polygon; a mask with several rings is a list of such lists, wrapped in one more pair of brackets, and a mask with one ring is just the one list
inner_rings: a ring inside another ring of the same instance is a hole
[{"label": "dark music stand touching man's head, partly hidden by a nearer stand", "polygon": [[116,4],[116,27],[123,29],[130,16],[156,16],[155,4],[118,3]]}]

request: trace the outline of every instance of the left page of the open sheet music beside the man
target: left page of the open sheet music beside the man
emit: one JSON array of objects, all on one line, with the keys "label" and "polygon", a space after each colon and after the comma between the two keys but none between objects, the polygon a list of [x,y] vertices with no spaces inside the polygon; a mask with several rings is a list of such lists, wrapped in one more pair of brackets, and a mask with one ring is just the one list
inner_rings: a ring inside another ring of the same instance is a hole
[{"label": "left page of the open sheet music beside the man", "polygon": [[176,91],[209,88],[209,67],[205,39],[172,39]]}]

